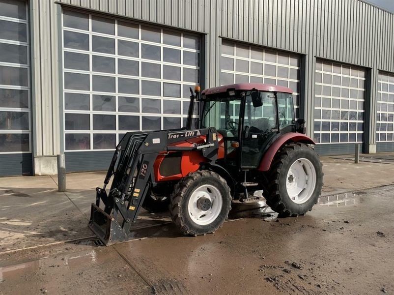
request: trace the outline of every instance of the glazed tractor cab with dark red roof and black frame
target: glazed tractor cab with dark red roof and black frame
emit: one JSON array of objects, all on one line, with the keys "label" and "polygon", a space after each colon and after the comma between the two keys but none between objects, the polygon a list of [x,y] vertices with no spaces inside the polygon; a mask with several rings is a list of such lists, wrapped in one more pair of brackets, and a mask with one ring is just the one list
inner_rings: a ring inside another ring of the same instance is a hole
[{"label": "glazed tractor cab with dark red roof and black frame", "polygon": [[225,166],[255,169],[279,136],[296,131],[291,89],[242,83],[201,93],[200,128],[223,136]]}]

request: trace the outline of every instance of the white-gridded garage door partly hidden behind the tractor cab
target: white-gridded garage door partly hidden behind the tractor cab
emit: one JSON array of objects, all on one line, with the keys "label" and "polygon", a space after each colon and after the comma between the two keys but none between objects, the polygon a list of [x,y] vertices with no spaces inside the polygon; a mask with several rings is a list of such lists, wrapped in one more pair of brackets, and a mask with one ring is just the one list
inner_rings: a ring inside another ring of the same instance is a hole
[{"label": "white-gridded garage door partly hidden behind the tractor cab", "polygon": [[300,57],[296,54],[222,40],[220,84],[264,83],[289,87],[299,118]]}]

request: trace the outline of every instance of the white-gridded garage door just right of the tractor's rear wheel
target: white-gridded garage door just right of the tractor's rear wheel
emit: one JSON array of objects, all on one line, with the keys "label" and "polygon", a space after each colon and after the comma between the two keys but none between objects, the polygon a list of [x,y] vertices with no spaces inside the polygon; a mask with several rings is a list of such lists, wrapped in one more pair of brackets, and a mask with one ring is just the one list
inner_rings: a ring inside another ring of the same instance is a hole
[{"label": "white-gridded garage door just right of the tractor's rear wheel", "polygon": [[354,153],[364,141],[365,82],[362,67],[316,61],[314,140],[320,154]]}]

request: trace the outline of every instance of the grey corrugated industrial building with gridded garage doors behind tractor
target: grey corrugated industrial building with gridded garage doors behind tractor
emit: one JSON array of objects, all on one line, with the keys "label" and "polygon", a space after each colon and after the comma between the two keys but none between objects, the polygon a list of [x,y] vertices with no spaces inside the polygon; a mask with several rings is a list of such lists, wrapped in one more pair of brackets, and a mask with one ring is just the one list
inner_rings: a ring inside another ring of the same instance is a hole
[{"label": "grey corrugated industrial building with gridded garage doors behind tractor", "polygon": [[321,155],[394,150],[394,15],[364,1],[0,0],[0,176],[105,170],[235,82],[293,89]]}]

